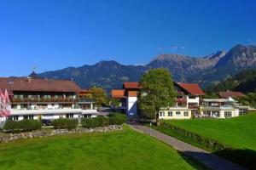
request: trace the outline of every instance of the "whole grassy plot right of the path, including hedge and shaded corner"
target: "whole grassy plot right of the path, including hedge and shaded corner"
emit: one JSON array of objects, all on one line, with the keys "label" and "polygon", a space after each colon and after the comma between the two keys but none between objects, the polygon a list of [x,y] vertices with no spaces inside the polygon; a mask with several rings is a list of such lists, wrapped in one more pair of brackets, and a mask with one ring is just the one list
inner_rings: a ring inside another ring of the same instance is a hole
[{"label": "whole grassy plot right of the path, including hedge and shaded corner", "polygon": [[212,151],[255,169],[256,160],[256,114],[230,119],[192,119],[161,122],[157,130]]}]

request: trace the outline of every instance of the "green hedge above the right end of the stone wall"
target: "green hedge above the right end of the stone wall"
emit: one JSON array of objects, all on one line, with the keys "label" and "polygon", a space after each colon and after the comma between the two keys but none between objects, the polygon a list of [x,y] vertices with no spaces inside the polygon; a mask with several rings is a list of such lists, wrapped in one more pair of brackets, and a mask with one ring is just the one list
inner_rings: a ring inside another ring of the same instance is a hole
[{"label": "green hedge above the right end of the stone wall", "polygon": [[106,116],[96,116],[94,118],[83,118],[82,127],[106,127],[108,125],[122,125],[126,122],[126,116],[121,114],[109,114]]}]

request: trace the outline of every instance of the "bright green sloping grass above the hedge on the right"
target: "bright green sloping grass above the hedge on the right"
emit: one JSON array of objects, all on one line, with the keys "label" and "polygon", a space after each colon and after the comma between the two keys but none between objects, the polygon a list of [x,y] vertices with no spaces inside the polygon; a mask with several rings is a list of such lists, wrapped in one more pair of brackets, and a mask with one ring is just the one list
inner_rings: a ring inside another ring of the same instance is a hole
[{"label": "bright green sloping grass above the hedge on the right", "polygon": [[217,139],[236,149],[256,150],[256,114],[231,119],[168,121],[190,132]]}]

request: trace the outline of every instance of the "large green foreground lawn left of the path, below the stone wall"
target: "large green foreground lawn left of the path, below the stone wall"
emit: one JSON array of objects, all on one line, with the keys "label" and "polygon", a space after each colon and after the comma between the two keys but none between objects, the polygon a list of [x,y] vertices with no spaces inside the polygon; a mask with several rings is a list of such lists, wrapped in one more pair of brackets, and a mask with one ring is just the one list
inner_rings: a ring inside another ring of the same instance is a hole
[{"label": "large green foreground lawn left of the path, below the stone wall", "polygon": [[112,133],[0,144],[0,169],[194,169],[176,150],[130,127]]}]

